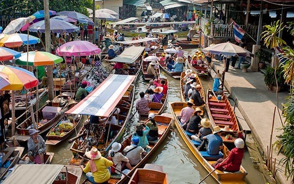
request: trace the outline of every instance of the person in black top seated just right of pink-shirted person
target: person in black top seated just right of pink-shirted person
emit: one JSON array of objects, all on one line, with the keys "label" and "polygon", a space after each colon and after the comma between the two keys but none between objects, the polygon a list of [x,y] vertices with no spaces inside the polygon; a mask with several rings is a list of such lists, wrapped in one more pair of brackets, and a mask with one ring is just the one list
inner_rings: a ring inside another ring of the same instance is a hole
[{"label": "person in black top seated just right of pink-shirted person", "polygon": [[189,133],[196,134],[199,132],[199,123],[201,121],[201,109],[196,107],[193,115],[190,117],[189,122],[182,125],[183,129],[188,131]]}]

